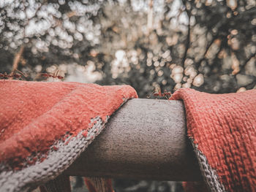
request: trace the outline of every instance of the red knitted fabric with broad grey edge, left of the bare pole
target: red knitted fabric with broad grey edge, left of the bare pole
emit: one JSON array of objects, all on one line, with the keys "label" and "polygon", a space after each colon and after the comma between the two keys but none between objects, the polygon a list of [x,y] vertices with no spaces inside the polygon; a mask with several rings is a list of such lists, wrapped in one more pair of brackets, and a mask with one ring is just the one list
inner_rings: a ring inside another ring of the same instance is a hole
[{"label": "red knitted fabric with broad grey edge, left of the bare pole", "polygon": [[56,177],[121,104],[138,97],[128,85],[78,82],[1,80],[0,92],[0,191]]}]

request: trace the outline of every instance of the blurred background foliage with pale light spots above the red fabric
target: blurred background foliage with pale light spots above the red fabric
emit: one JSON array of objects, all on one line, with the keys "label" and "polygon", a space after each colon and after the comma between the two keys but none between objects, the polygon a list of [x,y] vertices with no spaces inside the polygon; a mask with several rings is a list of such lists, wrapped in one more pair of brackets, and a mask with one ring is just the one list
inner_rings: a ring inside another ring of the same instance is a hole
[{"label": "blurred background foliage with pale light spots above the red fabric", "polygon": [[0,72],[23,80],[229,93],[256,88],[255,55],[255,0],[0,1]]}]

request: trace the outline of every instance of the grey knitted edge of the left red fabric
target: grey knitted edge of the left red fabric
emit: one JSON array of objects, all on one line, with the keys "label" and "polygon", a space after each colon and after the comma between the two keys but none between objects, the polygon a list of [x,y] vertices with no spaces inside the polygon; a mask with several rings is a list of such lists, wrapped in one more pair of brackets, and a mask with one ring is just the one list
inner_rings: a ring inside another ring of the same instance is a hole
[{"label": "grey knitted edge of the left red fabric", "polygon": [[68,137],[64,142],[59,140],[54,147],[58,148],[56,151],[50,151],[48,158],[42,162],[21,169],[19,171],[6,171],[0,174],[1,191],[31,191],[37,188],[38,185],[53,180],[61,172],[64,172],[76,158],[86,150],[91,142],[100,134],[105,128],[106,121],[102,121],[97,117],[91,119],[91,122],[96,122],[94,126],[88,131],[86,137],[83,136],[84,131],[76,137]]}]

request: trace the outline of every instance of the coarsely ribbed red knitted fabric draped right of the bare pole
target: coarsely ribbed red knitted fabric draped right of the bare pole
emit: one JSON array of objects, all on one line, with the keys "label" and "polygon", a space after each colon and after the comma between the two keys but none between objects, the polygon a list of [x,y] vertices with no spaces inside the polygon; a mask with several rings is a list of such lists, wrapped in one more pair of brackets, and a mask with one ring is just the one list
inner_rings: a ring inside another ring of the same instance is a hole
[{"label": "coarsely ribbed red knitted fabric draped right of the bare pole", "polygon": [[181,88],[187,134],[210,191],[256,191],[256,90],[209,94]]}]

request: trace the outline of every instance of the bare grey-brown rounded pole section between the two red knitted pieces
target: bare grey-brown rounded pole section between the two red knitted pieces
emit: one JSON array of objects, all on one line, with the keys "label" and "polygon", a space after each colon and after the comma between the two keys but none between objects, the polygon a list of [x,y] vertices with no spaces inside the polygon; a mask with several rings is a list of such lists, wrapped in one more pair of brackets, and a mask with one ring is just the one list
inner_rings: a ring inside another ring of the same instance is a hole
[{"label": "bare grey-brown rounded pole section between the two red knitted pieces", "polygon": [[186,136],[182,101],[132,99],[64,174],[202,180]]}]

